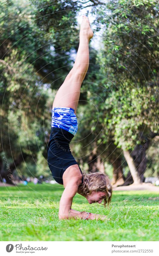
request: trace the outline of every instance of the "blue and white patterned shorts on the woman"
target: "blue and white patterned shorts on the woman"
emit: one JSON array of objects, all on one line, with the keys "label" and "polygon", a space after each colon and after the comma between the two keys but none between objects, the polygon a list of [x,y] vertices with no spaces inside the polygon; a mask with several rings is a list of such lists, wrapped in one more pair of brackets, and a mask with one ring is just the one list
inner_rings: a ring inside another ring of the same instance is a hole
[{"label": "blue and white patterned shorts on the woman", "polygon": [[74,109],[65,107],[53,108],[51,127],[62,128],[75,135],[78,130],[78,124],[76,114],[74,113]]}]

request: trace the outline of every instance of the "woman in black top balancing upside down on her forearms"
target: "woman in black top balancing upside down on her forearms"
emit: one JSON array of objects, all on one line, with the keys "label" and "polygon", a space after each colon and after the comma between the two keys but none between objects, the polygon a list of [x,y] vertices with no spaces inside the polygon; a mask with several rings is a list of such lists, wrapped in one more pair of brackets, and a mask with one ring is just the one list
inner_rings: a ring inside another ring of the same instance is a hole
[{"label": "woman in black top balancing upside down on her forearms", "polygon": [[79,49],[73,68],[59,88],[52,105],[52,127],[48,144],[48,165],[52,176],[59,184],[64,185],[61,196],[59,219],[81,218],[98,219],[106,216],[79,212],[71,209],[76,193],[84,196],[89,204],[104,200],[104,206],[110,203],[112,186],[104,173],[83,174],[71,154],[69,143],[77,132],[76,110],[79,101],[82,81],[89,65],[89,40],[93,37],[89,20],[83,16],[79,33]]}]

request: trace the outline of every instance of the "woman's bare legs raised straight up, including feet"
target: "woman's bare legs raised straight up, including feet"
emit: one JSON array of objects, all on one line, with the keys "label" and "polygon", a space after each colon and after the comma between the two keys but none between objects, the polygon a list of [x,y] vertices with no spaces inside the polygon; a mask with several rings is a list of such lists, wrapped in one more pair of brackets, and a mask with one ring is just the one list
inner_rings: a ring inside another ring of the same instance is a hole
[{"label": "woman's bare legs raised straight up, including feet", "polygon": [[79,101],[81,84],[89,66],[89,40],[93,37],[89,20],[83,16],[79,33],[79,48],[73,68],[64,80],[64,83],[56,93],[52,108],[69,107],[74,109],[75,114]]}]

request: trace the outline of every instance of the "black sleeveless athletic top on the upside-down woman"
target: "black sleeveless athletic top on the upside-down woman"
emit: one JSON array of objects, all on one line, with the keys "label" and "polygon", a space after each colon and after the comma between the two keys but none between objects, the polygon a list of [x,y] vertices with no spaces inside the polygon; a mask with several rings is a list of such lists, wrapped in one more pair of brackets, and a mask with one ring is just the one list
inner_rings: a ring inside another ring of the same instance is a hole
[{"label": "black sleeveless athletic top on the upside-down woman", "polygon": [[[64,171],[69,166],[78,164],[74,159],[69,147],[69,143],[73,137],[74,135],[67,130],[57,127],[51,127],[51,134],[47,147],[47,162],[49,169],[52,172],[53,178],[56,182],[60,184],[63,184],[62,176],[64,174]],[[80,171],[82,173],[81,169]]]}]

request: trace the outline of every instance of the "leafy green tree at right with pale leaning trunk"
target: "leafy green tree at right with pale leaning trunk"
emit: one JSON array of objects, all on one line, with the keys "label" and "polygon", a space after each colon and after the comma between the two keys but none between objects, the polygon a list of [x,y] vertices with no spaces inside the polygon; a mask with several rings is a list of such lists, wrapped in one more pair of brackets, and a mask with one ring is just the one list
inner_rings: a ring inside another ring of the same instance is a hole
[{"label": "leafy green tree at right with pale leaning trunk", "polygon": [[98,62],[107,77],[102,82],[112,90],[106,107],[112,114],[109,125],[115,126],[115,144],[122,147],[138,183],[144,181],[148,141],[158,134],[157,2],[122,0],[109,6],[111,15],[103,19],[107,29]]}]

